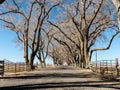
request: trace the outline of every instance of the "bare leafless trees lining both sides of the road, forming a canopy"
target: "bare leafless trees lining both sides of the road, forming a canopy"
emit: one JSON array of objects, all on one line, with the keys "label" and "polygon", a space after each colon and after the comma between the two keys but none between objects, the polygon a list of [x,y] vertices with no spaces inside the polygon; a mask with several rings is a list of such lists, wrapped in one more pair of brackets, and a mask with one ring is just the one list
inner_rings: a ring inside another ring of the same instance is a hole
[{"label": "bare leafless trees lining both sides of the road, forming a canopy", "polygon": [[[0,6],[0,20],[14,31],[23,46],[28,70],[35,57],[45,66],[64,62],[89,67],[92,53],[110,48],[119,34],[118,16],[110,0],[6,0]],[[98,40],[111,32],[108,46],[94,48]]]}]

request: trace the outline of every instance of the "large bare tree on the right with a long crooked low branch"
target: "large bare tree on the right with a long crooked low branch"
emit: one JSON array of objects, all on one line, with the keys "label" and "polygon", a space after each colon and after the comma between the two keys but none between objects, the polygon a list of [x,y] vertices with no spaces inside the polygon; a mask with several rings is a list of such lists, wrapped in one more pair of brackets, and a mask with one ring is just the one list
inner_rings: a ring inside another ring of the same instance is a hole
[{"label": "large bare tree on the right with a long crooked low branch", "polygon": [[[73,6],[73,7],[72,7]],[[89,66],[92,52],[96,50],[107,50],[116,35],[119,34],[117,18],[114,17],[114,6],[107,0],[75,0],[69,5],[64,5],[65,13],[61,22],[51,25],[56,27],[62,34],[71,41],[79,50],[80,61],[85,67]],[[67,18],[66,18],[67,17]],[[114,18],[113,18],[114,17]],[[68,22],[66,23],[66,20]],[[69,35],[72,31],[76,40]],[[74,31],[74,32],[73,32]],[[93,48],[98,38],[105,37],[105,32],[111,31],[111,39],[105,48]],[[63,41],[63,39],[61,39]]]}]

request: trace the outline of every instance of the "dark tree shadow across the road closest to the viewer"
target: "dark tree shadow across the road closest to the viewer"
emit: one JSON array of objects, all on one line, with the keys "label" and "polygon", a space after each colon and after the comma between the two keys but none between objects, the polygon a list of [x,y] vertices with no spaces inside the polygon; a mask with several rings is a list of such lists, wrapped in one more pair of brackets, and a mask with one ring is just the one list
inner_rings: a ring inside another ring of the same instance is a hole
[{"label": "dark tree shadow across the road closest to the viewer", "polygon": [[[60,83],[42,83],[42,84],[29,84],[29,85],[19,85],[19,86],[8,86],[1,87],[0,90],[34,90],[34,89],[57,89],[57,88],[74,88],[74,87],[93,87],[93,88],[111,88],[119,90],[120,87],[115,87],[113,84],[95,84],[99,83],[96,81],[85,81],[85,82],[60,82]],[[120,85],[120,83],[115,84]],[[109,89],[108,89],[109,90]]]}]

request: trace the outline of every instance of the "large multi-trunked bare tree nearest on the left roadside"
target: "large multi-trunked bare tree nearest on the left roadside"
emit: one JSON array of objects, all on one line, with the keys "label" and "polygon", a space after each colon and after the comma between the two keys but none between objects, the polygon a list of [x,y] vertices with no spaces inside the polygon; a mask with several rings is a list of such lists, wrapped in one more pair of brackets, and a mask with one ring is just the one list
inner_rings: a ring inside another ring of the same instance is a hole
[{"label": "large multi-trunked bare tree nearest on the left roadside", "polygon": [[0,20],[5,27],[10,28],[23,44],[24,58],[28,70],[32,70],[37,52],[39,51],[42,29],[46,29],[46,18],[59,3],[50,0],[8,0],[4,4],[4,11],[0,13]]}]

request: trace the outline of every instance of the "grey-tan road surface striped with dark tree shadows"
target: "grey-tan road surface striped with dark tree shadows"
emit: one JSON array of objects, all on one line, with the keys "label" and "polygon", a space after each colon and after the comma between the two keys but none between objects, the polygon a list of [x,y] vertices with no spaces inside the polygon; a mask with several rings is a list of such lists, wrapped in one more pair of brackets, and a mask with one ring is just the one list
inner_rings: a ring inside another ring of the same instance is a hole
[{"label": "grey-tan road surface striped with dark tree shadows", "polygon": [[120,90],[120,82],[101,79],[89,69],[68,66],[6,74],[0,90]]}]

